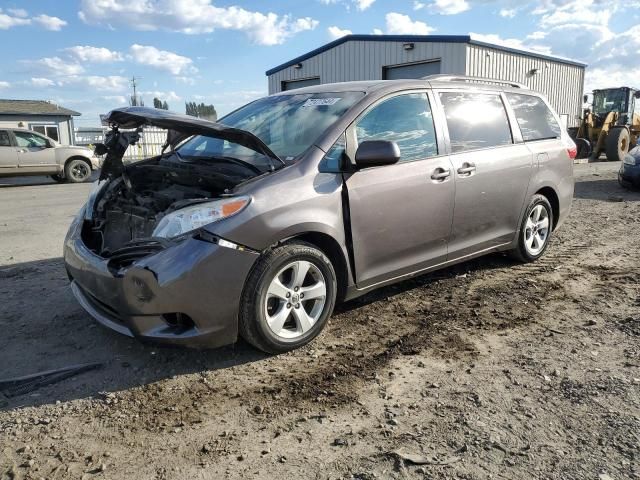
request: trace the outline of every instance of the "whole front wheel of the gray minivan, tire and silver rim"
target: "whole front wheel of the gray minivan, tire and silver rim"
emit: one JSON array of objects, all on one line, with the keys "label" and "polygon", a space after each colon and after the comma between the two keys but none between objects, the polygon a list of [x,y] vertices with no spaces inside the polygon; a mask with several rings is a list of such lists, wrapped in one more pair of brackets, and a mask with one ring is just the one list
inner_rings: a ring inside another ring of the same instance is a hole
[{"label": "whole front wheel of the gray minivan, tire and silver rim", "polygon": [[[302,280],[296,278],[305,268]],[[238,319],[240,335],[267,353],[306,345],[326,325],[336,292],[333,265],[315,246],[292,242],[269,250],[256,262],[245,284]]]}]

